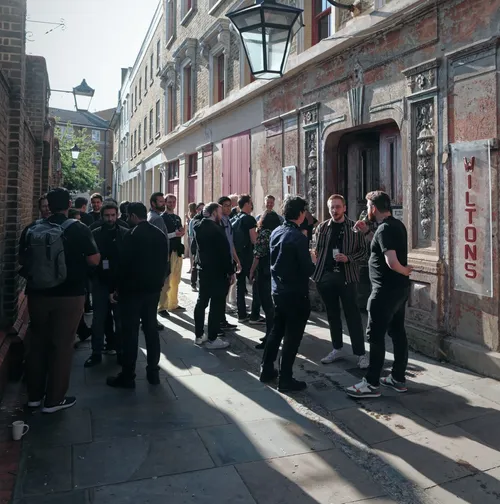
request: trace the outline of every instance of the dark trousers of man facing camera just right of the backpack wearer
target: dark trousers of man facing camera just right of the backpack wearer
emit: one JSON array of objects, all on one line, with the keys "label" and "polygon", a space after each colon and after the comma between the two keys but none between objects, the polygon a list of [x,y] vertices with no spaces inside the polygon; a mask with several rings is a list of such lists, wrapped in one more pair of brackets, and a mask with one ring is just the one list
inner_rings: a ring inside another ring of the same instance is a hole
[{"label": "dark trousers of man facing camera just right of the backpack wearer", "polygon": [[[92,352],[100,354],[104,349],[105,332],[108,348],[115,349],[115,334],[120,334],[121,329],[120,316],[118,313],[118,306],[111,303],[109,300],[108,286],[100,282],[99,279],[94,279],[92,281],[92,299],[94,302],[94,315],[92,317]],[[111,321],[109,321],[110,317]],[[115,329],[113,329],[113,322]]]}]

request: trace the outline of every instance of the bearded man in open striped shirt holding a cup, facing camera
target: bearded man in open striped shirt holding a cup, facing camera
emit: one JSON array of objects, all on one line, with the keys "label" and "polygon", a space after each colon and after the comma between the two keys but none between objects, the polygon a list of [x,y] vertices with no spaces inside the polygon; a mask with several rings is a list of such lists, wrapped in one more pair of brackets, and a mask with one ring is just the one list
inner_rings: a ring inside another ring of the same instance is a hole
[{"label": "bearded man in open striped shirt holding a cup, facing camera", "polygon": [[330,364],[345,357],[342,340],[340,301],[349,329],[358,366],[368,367],[361,314],[357,304],[359,265],[368,257],[368,246],[362,233],[353,231],[354,221],[345,215],[345,199],[334,194],[328,199],[331,219],[322,222],[316,231],[316,270],[312,279],[326,306],[333,350],[323,359]]}]

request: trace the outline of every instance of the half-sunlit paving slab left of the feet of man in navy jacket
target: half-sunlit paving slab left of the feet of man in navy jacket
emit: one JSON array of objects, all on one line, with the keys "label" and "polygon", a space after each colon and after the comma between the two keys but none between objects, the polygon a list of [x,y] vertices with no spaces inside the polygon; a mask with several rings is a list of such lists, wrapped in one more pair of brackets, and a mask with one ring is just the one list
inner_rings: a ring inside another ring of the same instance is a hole
[{"label": "half-sunlit paving slab left of the feet of man in navy jacket", "polygon": [[179,399],[192,397],[223,396],[236,392],[263,389],[265,385],[257,377],[244,371],[218,375],[195,375],[169,378],[168,382]]}]

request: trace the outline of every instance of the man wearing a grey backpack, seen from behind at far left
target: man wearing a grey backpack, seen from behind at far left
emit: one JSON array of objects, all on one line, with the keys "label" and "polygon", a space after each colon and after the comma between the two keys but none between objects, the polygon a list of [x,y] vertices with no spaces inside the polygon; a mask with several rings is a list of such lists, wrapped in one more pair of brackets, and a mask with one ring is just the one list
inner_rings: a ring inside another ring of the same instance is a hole
[{"label": "man wearing a grey backpack, seen from behind at far left", "polygon": [[89,228],[67,217],[70,193],[52,189],[47,200],[52,215],[28,229],[19,244],[19,262],[31,323],[28,406],[37,408],[43,401],[42,411],[55,413],[76,403],[66,397],[73,342],[83,314],[87,267],[97,266],[100,254]]}]

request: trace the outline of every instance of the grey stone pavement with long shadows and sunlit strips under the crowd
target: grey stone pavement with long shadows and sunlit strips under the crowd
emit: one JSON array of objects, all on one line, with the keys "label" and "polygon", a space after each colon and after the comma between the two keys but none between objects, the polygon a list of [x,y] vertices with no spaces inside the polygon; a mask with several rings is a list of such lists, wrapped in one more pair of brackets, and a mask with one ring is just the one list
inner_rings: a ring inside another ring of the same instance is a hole
[{"label": "grey stone pavement with long shadows and sunlit strips under the crowd", "polygon": [[114,357],[84,369],[89,348],[76,352],[77,405],[24,413],[16,504],[500,500],[500,383],[412,354],[408,394],[356,402],[342,390],[362,376],[355,359],[319,363],[330,349],[320,314],[297,359],[309,388],[281,395],[256,377],[263,328],[240,326],[227,350],[193,345],[195,296],[184,275],[188,310],[165,322],[159,387],[143,340],[134,391],[104,384]]}]

